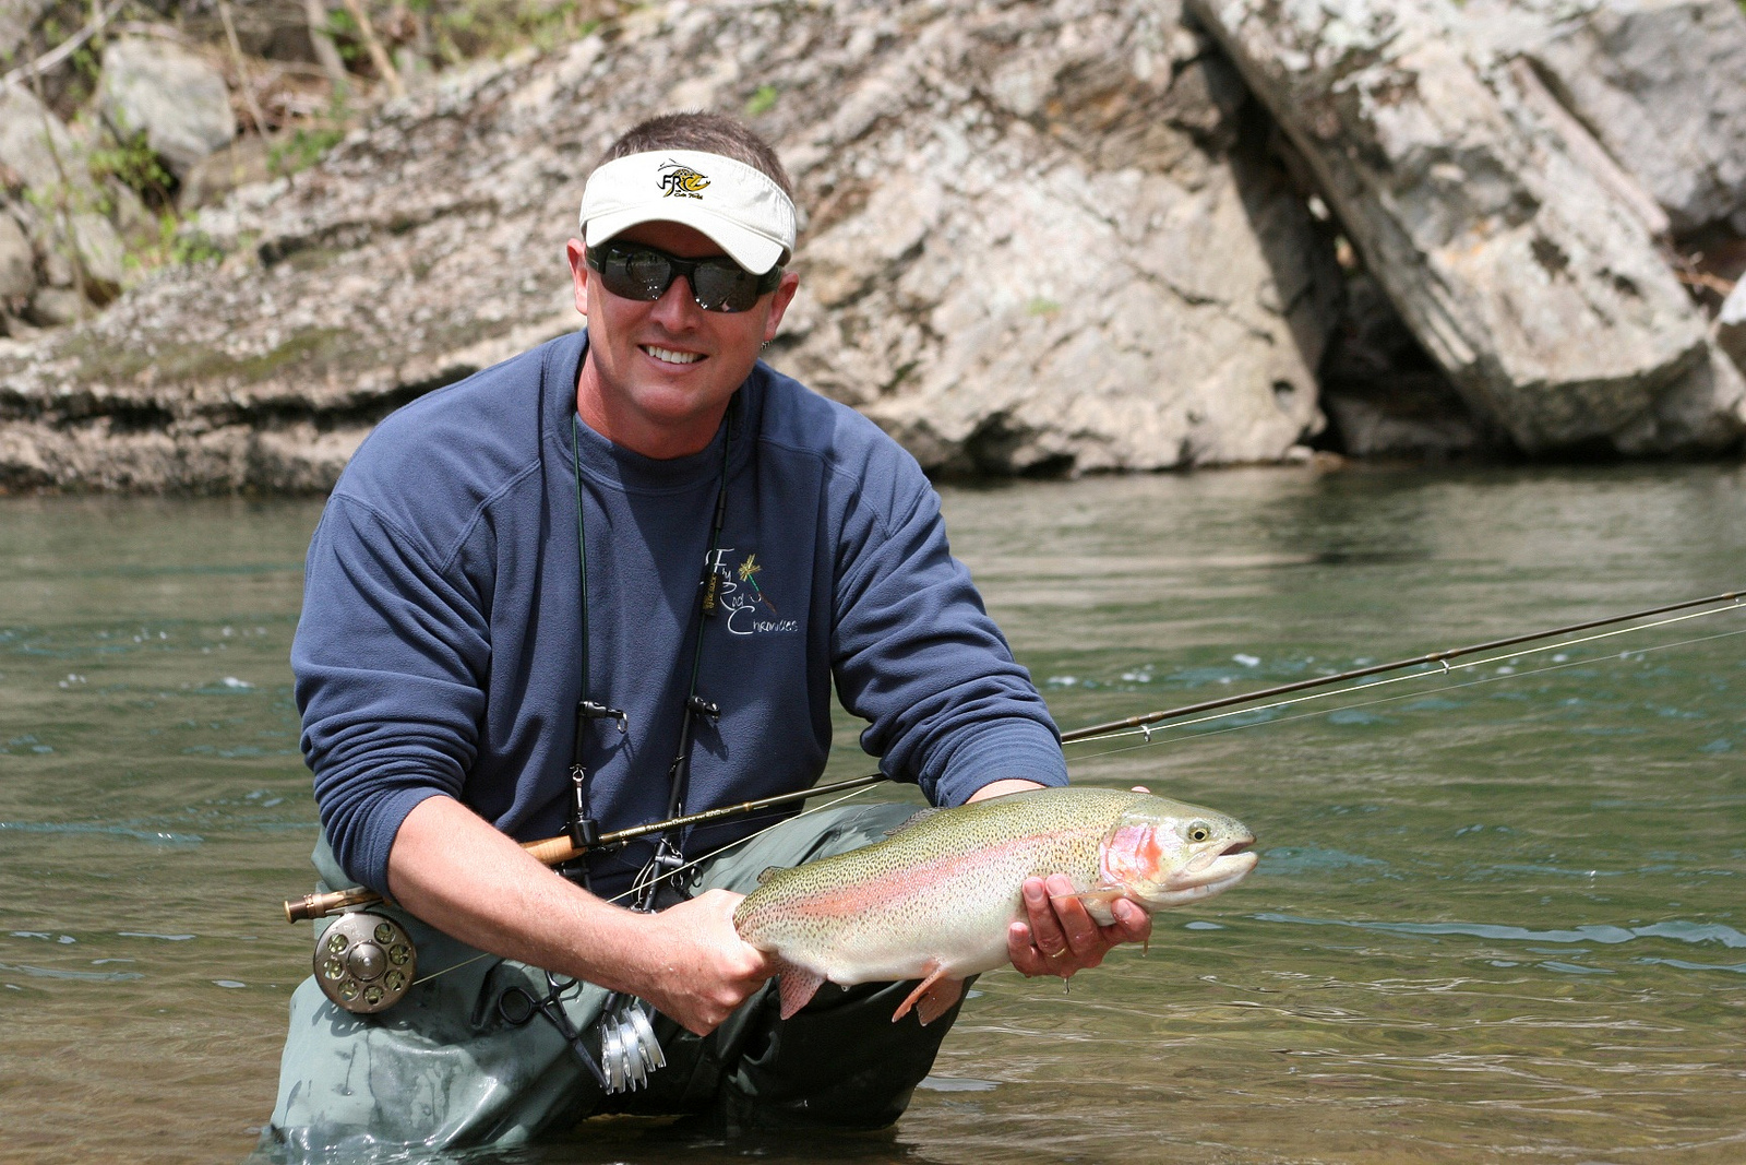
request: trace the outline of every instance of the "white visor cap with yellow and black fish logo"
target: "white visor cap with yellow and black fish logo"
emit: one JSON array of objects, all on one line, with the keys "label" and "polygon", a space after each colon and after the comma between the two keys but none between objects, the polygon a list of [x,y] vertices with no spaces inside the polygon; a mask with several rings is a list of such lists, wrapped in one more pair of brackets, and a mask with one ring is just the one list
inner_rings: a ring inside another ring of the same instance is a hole
[{"label": "white visor cap with yellow and black fish logo", "polygon": [[794,253],[794,203],[766,173],[704,150],[615,157],[581,190],[581,241],[599,246],[644,222],[679,222],[763,274]]}]

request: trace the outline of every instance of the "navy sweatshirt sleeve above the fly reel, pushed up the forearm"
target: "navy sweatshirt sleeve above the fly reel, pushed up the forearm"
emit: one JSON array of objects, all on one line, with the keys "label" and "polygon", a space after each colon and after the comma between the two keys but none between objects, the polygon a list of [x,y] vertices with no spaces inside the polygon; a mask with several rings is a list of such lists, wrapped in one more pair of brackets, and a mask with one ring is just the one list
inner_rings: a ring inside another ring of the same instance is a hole
[{"label": "navy sweatshirt sleeve above the fly reel, pushed up the forearm", "polygon": [[388,889],[400,823],[459,796],[491,665],[480,596],[407,531],[335,494],[309,545],[292,645],[304,760],[328,844],[361,884]]}]

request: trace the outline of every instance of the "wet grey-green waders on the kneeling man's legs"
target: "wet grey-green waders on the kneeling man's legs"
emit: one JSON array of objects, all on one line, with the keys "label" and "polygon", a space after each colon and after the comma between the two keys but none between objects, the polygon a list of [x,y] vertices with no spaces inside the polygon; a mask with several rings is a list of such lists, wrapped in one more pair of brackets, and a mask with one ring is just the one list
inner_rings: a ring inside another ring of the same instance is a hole
[{"label": "wet grey-green waders on the kneeling man's legs", "polygon": [[[695,891],[749,893],[768,866],[876,842],[911,812],[845,805],[794,817],[704,861]],[[325,842],[314,861],[327,886],[346,884]],[[314,978],[297,987],[279,1099],[262,1137],[271,1158],[508,1148],[604,1113],[697,1114],[723,1132],[882,1128],[903,1114],[957,1020],[953,1008],[927,1027],[908,1017],[892,1024],[913,983],[826,983],[784,1022],[772,980],[704,1037],[656,1015],[667,1067],[651,1072],[646,1088],[608,1097],[553,1024],[536,1015],[512,1027],[499,1015],[506,987],[543,997],[543,971],[480,955],[403,912],[389,913],[417,943],[421,982],[379,1015],[337,1008]],[[583,983],[562,1003],[590,1051],[599,1048],[590,1029],[604,997]]]}]

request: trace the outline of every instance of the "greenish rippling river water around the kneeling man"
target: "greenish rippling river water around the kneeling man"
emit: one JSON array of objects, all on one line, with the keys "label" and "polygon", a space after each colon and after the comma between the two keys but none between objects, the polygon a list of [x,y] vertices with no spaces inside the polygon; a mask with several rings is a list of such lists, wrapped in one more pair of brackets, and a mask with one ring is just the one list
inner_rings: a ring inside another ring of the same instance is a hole
[{"label": "greenish rippling river water around the kneeling man", "polygon": [[[1255,470],[945,491],[1065,728],[1746,585],[1746,472]],[[314,501],[0,498],[0,1158],[234,1162],[314,837]],[[1746,1160],[1746,608],[1070,748],[1261,866],[980,996],[896,1132],[517,1162]],[[831,776],[870,763],[840,725]],[[892,791],[885,793],[887,796]],[[901,793],[897,793],[901,796]]]}]

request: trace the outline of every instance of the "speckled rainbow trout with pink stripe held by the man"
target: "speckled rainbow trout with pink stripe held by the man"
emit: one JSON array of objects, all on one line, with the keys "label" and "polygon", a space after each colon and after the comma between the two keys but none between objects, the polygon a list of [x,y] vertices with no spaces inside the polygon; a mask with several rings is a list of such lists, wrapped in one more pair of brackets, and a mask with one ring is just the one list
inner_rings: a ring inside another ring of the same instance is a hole
[{"label": "speckled rainbow trout with pink stripe held by the man", "polygon": [[1151,793],[1032,789],[922,810],[883,842],[768,872],[733,926],[775,955],[782,1018],[826,980],[918,978],[890,1018],[915,1008],[927,1024],[966,976],[1007,962],[1025,879],[1069,875],[1107,926],[1117,898],[1163,910],[1231,889],[1255,868],[1254,842],[1224,814]]}]

